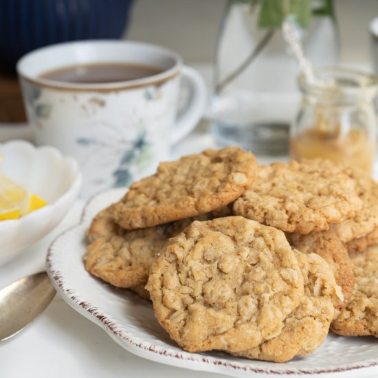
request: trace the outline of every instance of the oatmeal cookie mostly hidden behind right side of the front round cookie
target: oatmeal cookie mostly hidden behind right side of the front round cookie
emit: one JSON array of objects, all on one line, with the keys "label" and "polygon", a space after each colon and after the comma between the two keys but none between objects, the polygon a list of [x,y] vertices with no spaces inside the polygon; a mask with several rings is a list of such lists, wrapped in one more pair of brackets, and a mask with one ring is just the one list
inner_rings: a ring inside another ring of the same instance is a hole
[{"label": "oatmeal cookie mostly hidden behind right side of the front round cookie", "polygon": [[329,332],[334,304],[342,299],[329,265],[317,254],[296,252],[304,278],[300,305],[285,319],[282,332],[256,348],[236,355],[265,361],[287,362],[317,349]]}]

